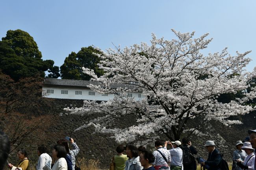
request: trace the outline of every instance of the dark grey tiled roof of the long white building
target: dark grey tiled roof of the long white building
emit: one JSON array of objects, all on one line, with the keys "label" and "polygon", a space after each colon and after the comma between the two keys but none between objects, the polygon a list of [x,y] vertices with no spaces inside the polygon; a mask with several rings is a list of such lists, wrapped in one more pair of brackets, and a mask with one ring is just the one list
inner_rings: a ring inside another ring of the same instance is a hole
[{"label": "dark grey tiled roof of the long white building", "polygon": [[[81,87],[86,88],[89,86],[89,84],[93,85],[100,85],[101,87],[104,87],[104,85],[101,82],[96,81],[85,81],[85,80],[66,80],[66,79],[48,79],[46,78],[43,82],[45,86],[66,86],[66,87]],[[111,88],[128,88],[128,89],[135,89],[137,86],[134,84],[118,84],[113,83],[110,85]]]}]

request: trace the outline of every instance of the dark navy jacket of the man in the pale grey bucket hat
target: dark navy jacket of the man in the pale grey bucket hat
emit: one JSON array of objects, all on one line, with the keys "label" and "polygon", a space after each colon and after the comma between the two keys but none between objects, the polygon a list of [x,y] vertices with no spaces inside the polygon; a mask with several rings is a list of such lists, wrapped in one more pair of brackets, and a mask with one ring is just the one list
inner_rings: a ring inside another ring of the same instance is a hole
[{"label": "dark navy jacket of the man in the pale grey bucket hat", "polygon": [[210,166],[208,170],[221,170],[222,157],[219,150],[216,148],[212,153],[209,153],[207,161],[205,164]]}]

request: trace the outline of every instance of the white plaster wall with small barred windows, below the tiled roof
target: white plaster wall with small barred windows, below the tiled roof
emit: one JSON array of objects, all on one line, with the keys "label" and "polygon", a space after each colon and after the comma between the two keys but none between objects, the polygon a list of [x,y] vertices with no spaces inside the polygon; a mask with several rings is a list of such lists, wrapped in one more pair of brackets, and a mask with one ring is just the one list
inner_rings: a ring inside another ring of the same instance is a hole
[{"label": "white plaster wall with small barred windows, below the tiled roof", "polygon": [[[54,90],[54,93],[47,93],[46,90]],[[61,94],[61,90],[68,90],[68,94]],[[82,95],[75,95],[75,91],[82,91]],[[89,95],[89,88],[69,88],[69,87],[56,87],[56,86],[43,86],[43,97],[54,98],[54,99],[82,99],[82,100],[96,100],[96,101],[108,101],[109,99],[114,98],[114,94],[108,94],[108,96],[102,96],[95,92],[95,96]],[[141,94],[141,98],[138,97],[138,94]],[[141,92],[132,93],[132,97],[135,100],[139,101],[143,99]]]}]

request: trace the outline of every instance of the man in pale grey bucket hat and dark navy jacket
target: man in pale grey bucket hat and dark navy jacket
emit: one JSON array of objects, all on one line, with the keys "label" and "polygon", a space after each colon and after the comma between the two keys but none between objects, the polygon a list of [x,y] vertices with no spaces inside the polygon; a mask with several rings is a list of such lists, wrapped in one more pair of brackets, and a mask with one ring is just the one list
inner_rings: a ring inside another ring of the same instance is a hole
[{"label": "man in pale grey bucket hat and dark navy jacket", "polygon": [[209,152],[208,159],[205,162],[202,162],[201,165],[208,165],[210,168],[208,170],[221,170],[221,154],[217,148],[215,148],[215,144],[213,141],[206,141],[204,145]]}]

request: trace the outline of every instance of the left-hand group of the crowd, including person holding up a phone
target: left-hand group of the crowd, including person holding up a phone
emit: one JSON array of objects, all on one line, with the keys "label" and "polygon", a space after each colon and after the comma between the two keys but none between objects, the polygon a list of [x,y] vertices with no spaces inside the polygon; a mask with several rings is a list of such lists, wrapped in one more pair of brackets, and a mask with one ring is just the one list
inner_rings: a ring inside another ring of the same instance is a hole
[{"label": "left-hand group of the crowd, including person holding up a phone", "polygon": [[[60,139],[54,145],[52,157],[48,155],[48,150],[45,145],[40,145],[37,148],[38,161],[36,170],[75,170],[76,155],[80,151],[77,144],[70,138],[72,150],[69,149],[69,141]],[[27,152],[21,148],[17,152],[19,162],[17,166],[8,162],[7,158],[10,152],[10,141],[4,132],[0,131],[0,170],[5,166],[11,170],[29,170],[30,161],[27,158]]]}]

